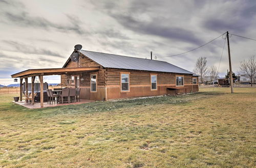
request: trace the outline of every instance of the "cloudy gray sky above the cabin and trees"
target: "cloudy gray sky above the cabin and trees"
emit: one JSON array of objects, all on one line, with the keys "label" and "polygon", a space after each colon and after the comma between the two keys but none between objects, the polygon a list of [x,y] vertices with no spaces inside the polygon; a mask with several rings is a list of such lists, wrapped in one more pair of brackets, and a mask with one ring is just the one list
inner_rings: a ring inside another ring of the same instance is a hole
[{"label": "cloudy gray sky above the cabin and trees", "polygon": [[[228,69],[224,38],[197,50],[226,31],[256,39],[256,1],[12,1],[0,0],[0,84],[11,74],[34,68],[61,68],[74,49],[166,61],[193,71],[199,57]],[[233,72],[256,55],[256,42],[230,37]],[[221,62],[220,62],[221,59]],[[59,76],[45,81],[59,83]]]}]

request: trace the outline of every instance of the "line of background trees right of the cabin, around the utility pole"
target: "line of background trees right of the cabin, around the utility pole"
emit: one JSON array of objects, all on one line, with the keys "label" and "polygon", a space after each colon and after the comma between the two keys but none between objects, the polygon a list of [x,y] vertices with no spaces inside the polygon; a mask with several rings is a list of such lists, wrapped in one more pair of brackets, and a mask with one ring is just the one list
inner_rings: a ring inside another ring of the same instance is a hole
[{"label": "line of background trees right of the cabin, around the utility pole", "polygon": [[[218,69],[216,66],[208,66],[206,57],[200,57],[197,59],[196,65],[194,67],[193,72],[195,74],[200,75],[199,81],[200,83],[204,83],[205,77],[210,77],[210,83],[214,82],[217,79],[217,76],[219,74]],[[239,72],[240,75],[243,75],[245,77],[248,77],[251,82],[252,86],[252,80],[254,77],[256,77],[256,62],[253,57],[250,57],[248,60],[244,60],[240,62]],[[236,74],[232,74],[233,78],[237,78]],[[226,78],[229,78],[229,72],[227,72]]]}]

